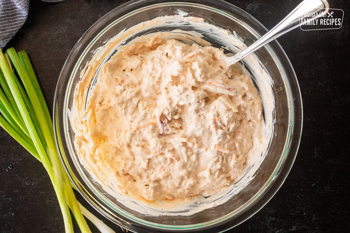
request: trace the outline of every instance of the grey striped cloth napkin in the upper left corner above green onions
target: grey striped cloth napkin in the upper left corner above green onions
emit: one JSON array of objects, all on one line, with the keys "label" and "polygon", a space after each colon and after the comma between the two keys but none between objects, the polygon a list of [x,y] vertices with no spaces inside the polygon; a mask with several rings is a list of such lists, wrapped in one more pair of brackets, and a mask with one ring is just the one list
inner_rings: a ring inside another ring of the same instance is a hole
[{"label": "grey striped cloth napkin in the upper left corner above green onions", "polygon": [[[63,0],[42,0],[59,2]],[[27,19],[29,0],[0,0],[0,48],[18,32]]]}]

